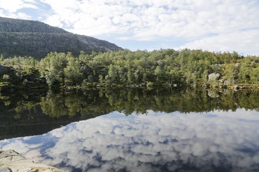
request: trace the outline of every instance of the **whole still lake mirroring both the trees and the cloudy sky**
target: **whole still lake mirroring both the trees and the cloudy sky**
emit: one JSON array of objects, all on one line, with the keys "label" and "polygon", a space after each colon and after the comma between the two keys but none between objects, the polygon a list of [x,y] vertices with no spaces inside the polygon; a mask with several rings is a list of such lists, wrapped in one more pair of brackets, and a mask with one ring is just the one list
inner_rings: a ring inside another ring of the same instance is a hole
[{"label": "whole still lake mirroring both the trees and the cloudy sky", "polygon": [[0,147],[66,172],[258,172],[259,91],[21,92],[0,99]]}]

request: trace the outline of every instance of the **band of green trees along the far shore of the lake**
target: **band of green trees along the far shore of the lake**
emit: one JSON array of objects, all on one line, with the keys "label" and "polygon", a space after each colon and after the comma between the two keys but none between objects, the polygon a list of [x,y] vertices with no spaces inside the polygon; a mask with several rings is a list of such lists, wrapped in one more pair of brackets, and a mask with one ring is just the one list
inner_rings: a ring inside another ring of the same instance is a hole
[{"label": "band of green trees along the far shore of the lake", "polygon": [[[160,49],[154,51],[111,51],[49,53],[37,60],[33,57],[0,57],[0,64],[14,66],[17,76],[32,74],[45,79],[48,86],[64,83],[87,86],[106,85],[215,85],[208,75],[219,73],[226,85],[259,84],[259,58],[236,52]],[[2,80],[8,77],[2,76]],[[27,81],[30,80],[26,79]]]}]

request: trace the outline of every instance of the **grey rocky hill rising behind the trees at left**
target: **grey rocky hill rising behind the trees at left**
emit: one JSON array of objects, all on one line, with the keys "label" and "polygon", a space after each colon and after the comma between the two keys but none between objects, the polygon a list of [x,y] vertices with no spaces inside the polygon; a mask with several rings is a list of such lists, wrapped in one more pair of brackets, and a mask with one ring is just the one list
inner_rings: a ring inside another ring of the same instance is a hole
[{"label": "grey rocky hill rising behind the trees at left", "polygon": [[4,57],[42,58],[55,51],[78,55],[80,51],[91,53],[121,49],[108,41],[73,34],[38,21],[0,17],[0,53]]}]

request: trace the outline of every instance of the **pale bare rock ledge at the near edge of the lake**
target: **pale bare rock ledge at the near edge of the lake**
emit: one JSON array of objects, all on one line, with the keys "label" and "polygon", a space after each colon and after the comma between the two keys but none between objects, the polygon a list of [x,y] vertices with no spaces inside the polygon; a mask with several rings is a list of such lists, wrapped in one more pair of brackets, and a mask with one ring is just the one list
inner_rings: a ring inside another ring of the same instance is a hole
[{"label": "pale bare rock ledge at the near edge of the lake", "polygon": [[0,148],[0,172],[63,172],[54,167],[36,164],[18,152]]}]

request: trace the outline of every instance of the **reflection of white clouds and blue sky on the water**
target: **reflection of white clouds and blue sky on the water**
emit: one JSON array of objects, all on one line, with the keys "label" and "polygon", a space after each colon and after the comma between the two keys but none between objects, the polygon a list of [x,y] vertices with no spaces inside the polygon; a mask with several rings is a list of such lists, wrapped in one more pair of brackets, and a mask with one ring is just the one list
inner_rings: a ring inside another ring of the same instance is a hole
[{"label": "reflection of white clouds and blue sky on the water", "polygon": [[117,111],[42,136],[0,141],[66,171],[259,171],[259,114]]}]

